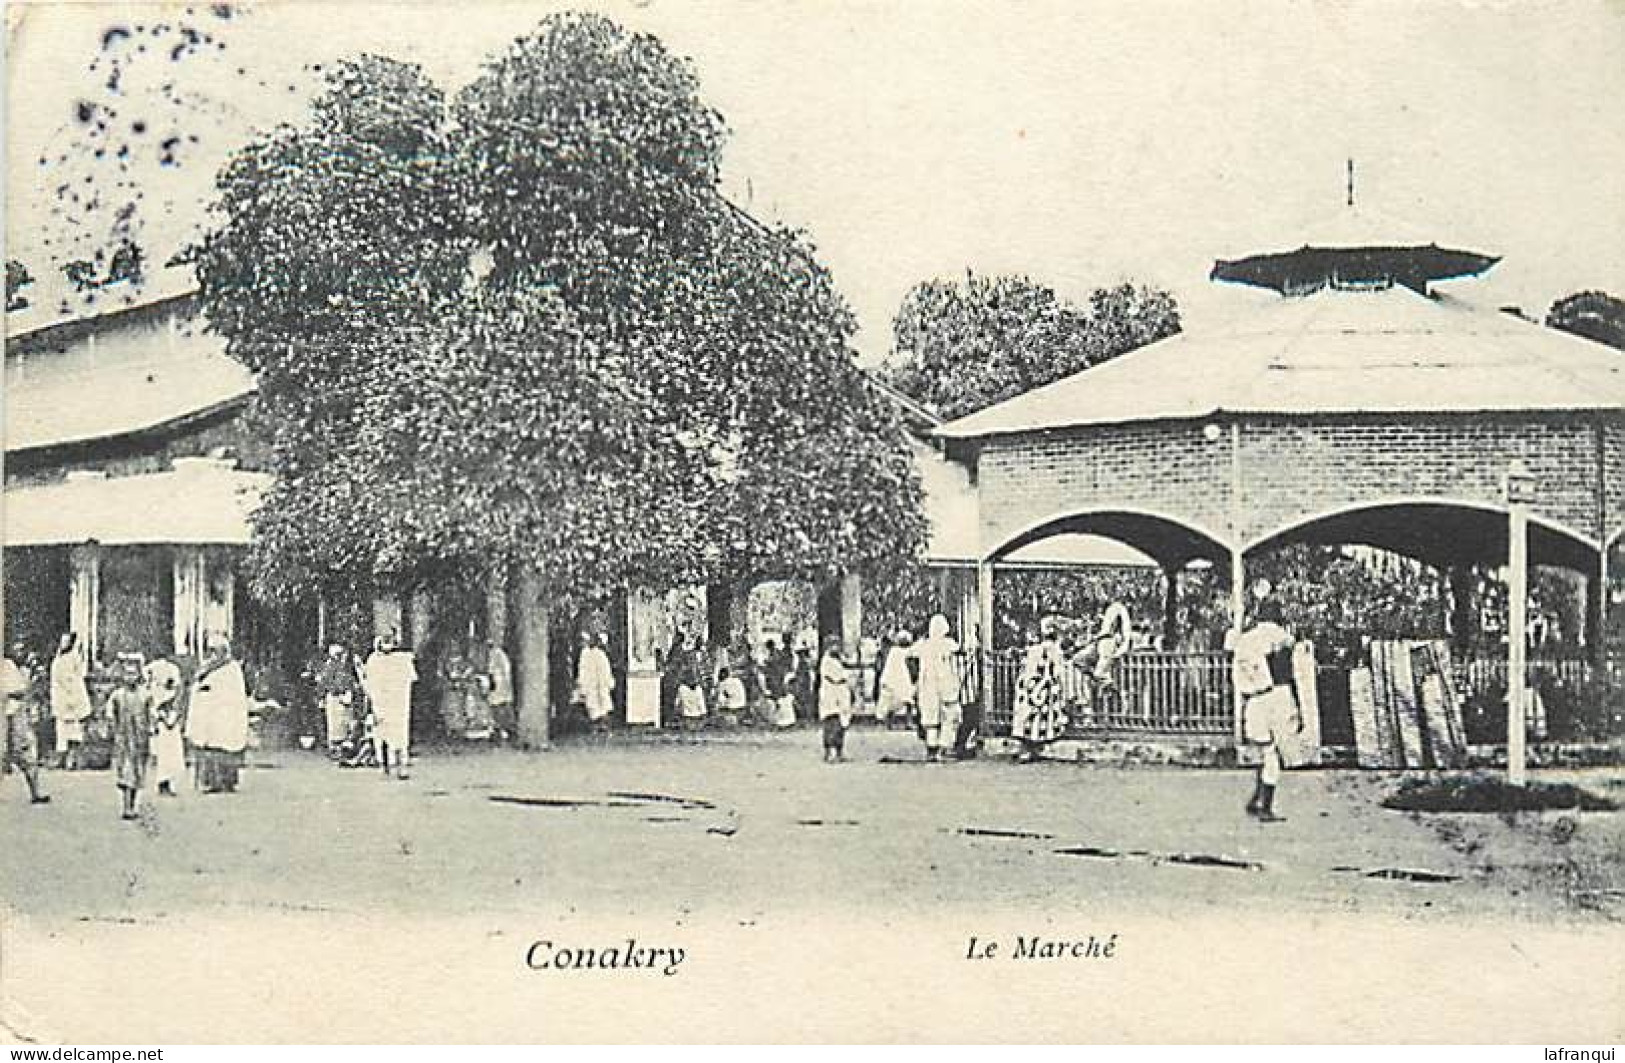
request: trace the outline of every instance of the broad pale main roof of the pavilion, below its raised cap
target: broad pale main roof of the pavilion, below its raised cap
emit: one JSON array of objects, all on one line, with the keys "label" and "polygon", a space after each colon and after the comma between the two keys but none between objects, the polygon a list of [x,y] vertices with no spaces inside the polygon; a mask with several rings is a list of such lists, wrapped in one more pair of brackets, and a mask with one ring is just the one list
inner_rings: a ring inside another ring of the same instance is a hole
[{"label": "broad pale main roof of the pavilion, below its raised cap", "polygon": [[1248,307],[951,421],[944,439],[1219,413],[1625,410],[1625,356],[1453,296],[1342,291]]}]

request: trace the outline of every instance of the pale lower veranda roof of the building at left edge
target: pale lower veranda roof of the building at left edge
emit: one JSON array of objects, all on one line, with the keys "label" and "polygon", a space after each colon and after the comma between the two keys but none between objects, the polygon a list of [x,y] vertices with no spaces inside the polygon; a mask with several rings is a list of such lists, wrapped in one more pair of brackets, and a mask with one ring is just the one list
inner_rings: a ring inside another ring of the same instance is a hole
[{"label": "pale lower veranda roof of the building at left edge", "polygon": [[218,545],[245,546],[249,515],[271,478],[208,458],[141,476],[83,476],[6,488],[0,528],[6,546]]}]

